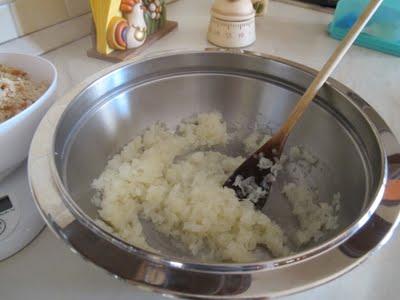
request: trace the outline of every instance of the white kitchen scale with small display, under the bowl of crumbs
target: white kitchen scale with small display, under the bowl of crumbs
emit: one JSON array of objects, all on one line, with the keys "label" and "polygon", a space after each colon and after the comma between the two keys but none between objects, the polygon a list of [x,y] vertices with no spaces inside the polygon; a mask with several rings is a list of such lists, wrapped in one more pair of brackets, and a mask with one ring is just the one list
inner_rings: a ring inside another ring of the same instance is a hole
[{"label": "white kitchen scale with small display, under the bowl of crumbs", "polygon": [[28,245],[43,227],[24,162],[0,182],[0,261]]}]

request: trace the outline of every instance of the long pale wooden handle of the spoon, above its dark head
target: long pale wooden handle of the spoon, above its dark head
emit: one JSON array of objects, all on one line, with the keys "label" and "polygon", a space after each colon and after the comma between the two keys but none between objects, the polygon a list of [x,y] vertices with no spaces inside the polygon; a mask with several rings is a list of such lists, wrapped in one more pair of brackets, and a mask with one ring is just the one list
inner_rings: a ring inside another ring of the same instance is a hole
[{"label": "long pale wooden handle of the spoon, above its dark head", "polygon": [[335,52],[331,55],[325,65],[322,67],[321,71],[315,77],[314,81],[308,87],[304,95],[300,98],[299,102],[296,104],[292,112],[290,113],[287,121],[282,125],[277,133],[279,140],[282,142],[282,146],[285,143],[290,131],[296,125],[297,121],[303,115],[304,111],[307,109],[308,105],[314,99],[315,95],[318,93],[320,88],[324,85],[326,80],[335,70],[336,66],[342,60],[343,56],[349,50],[351,45],[357,39],[358,35],[367,25],[368,21],[374,15],[375,11],[381,5],[383,0],[371,0],[362,15],[358,18],[357,22],[353,25],[350,31],[347,33],[345,38],[340,42],[339,46],[336,48]]}]

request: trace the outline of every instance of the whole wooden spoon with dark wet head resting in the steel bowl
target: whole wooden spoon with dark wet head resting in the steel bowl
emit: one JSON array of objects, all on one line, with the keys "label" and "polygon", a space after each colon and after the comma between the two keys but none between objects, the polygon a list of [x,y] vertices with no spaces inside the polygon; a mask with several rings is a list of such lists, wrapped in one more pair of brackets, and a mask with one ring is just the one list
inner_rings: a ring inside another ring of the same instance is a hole
[{"label": "whole wooden spoon with dark wet head resting in the steel bowl", "polygon": [[[279,161],[290,132],[382,2],[383,0],[371,0],[369,2],[364,12],[360,15],[345,38],[339,43],[334,53],[300,98],[286,122],[283,123],[281,128],[272,136],[271,139],[254,152],[233,172],[233,174],[225,181],[224,187],[233,189],[240,199],[244,199],[249,195],[246,195],[246,192],[243,191],[243,187],[238,184],[237,179],[251,179],[250,182],[257,184],[263,189],[263,196],[258,198],[257,201],[254,202],[254,205],[257,209],[262,209],[264,207],[273,182],[273,179],[268,179],[268,175],[272,173],[271,163],[274,164]],[[259,168],[261,158],[267,159],[266,161],[269,162],[271,167]]]}]

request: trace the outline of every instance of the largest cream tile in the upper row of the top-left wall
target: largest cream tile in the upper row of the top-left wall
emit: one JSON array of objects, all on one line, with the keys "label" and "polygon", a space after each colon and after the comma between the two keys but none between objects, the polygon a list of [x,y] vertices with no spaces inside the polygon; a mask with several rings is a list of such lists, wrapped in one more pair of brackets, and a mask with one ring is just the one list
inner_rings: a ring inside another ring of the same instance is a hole
[{"label": "largest cream tile in the upper row of the top-left wall", "polygon": [[10,6],[20,35],[69,18],[64,0],[16,0]]}]

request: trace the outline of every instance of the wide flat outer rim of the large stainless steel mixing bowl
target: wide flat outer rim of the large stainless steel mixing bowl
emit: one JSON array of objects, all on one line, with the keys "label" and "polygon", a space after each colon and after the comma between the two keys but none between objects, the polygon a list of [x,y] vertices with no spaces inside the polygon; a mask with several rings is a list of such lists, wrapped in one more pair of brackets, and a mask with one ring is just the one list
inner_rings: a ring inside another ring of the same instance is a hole
[{"label": "wide flat outer rim of the large stainless steel mixing bowl", "polygon": [[[211,51],[222,50],[212,49]],[[189,53],[188,51],[186,52]],[[191,53],[193,52],[197,51],[191,51]],[[306,71],[310,74],[315,74],[315,71],[308,67],[273,56],[248,51],[243,52],[235,50],[234,52],[273,59],[285,64],[289,64],[289,66]],[[181,53],[181,51],[169,52],[169,54],[176,53]],[[165,53],[156,54],[153,57],[158,57],[160,55],[165,55]],[[136,59],[135,61],[139,60],[140,59]],[[65,109],[64,104],[71,102],[72,99],[76,95],[80,94],[85,87],[92,84],[97,78],[100,78],[101,75],[105,75],[112,70],[120,68],[122,65],[120,64],[113,66],[86,79],[80,86],[74,88],[58,102],[60,103],[60,106],[58,106],[56,103],[55,106],[57,107],[53,107],[53,109],[51,109],[51,111],[47,114],[47,116],[45,116],[44,120],[39,125],[39,129],[31,146],[31,153],[28,160],[30,187],[40,213],[54,234],[60,237],[67,245],[69,245],[74,253],[77,253],[84,260],[93,263],[95,266],[98,266],[99,269],[105,270],[109,274],[111,273],[114,278],[124,279],[140,288],[156,291],[164,295],[207,299],[265,299],[265,297],[279,297],[297,293],[331,281],[360,265],[371,254],[380,249],[392,236],[395,228],[400,222],[400,199],[399,201],[377,201],[378,208],[372,217],[367,221],[367,224],[361,227],[349,241],[342,242],[341,246],[321,252],[320,255],[312,257],[311,259],[303,260],[301,263],[287,265],[284,268],[254,270],[253,272],[223,271],[216,272],[215,275],[211,274],[212,276],[210,277],[209,274],[212,272],[210,272],[208,269],[204,271],[187,271],[181,268],[180,262],[174,263],[174,261],[171,260],[169,264],[164,264],[162,262],[158,264],[155,263],[154,260],[150,260],[152,254],[143,255],[138,251],[136,251],[137,254],[133,251],[126,253],[120,250],[120,253],[124,253],[123,263],[130,263],[130,268],[132,268],[132,271],[138,271],[135,263],[138,263],[140,266],[144,266],[147,270],[144,274],[131,273],[132,275],[130,276],[124,276],[123,268],[120,266],[110,267],[114,263],[114,260],[110,257],[106,258],[105,261],[104,258],[98,257],[98,255],[95,253],[80,250],[79,248],[82,246],[81,240],[71,240],[71,236],[69,236],[68,232],[65,231],[67,230],[68,224],[74,224],[74,230],[85,231],[90,239],[89,242],[93,239],[96,241],[104,241],[103,246],[106,244],[114,245],[112,247],[115,249],[115,251],[121,247],[119,246],[119,240],[113,239],[114,241],[106,241],[106,239],[103,239],[103,232],[95,227],[92,227],[91,225],[88,226],[88,224],[82,223],[81,218],[78,218],[75,213],[73,213],[71,208],[67,206],[66,201],[64,201],[61,195],[61,191],[59,190],[58,186],[56,186],[55,178],[53,177],[55,166],[51,159],[51,141],[43,141],[40,136],[42,135],[43,131],[46,130],[50,133],[54,132],[53,127],[49,129],[48,125],[46,126],[45,124],[49,122],[48,117],[50,114],[56,113],[59,115],[57,110],[60,108]],[[329,84],[340,93],[343,93],[343,95],[345,95],[349,101],[354,103],[359,109],[363,110],[363,112],[368,116],[368,120],[370,120],[377,128],[384,148],[388,150],[386,153],[387,157],[391,158],[394,156],[400,156],[400,145],[396,137],[390,131],[390,128],[386,125],[382,118],[376,113],[376,111],[371,108],[362,98],[341,83],[331,79]],[[48,138],[50,139],[51,137],[49,136]],[[42,152],[43,150],[46,152]],[[45,156],[44,153],[46,153]],[[400,165],[393,160],[389,160],[388,164],[389,178],[399,178]],[[44,172],[42,172],[43,170]],[[43,175],[44,178],[37,178],[38,174]],[[43,187],[43,184],[48,185],[49,187]],[[71,212],[73,214],[71,214]],[[374,225],[372,219],[375,216],[383,219],[388,226],[383,230],[375,228],[374,226],[371,227],[371,224]],[[363,249],[362,252],[358,253],[357,255],[351,255],[347,251],[344,251],[344,246],[348,245],[354,237],[360,237],[360,232],[363,231],[363,229],[367,226],[369,226],[370,232],[368,232],[366,236],[361,236],[361,239],[362,241],[370,242],[371,247],[368,249]],[[92,228],[88,229],[89,227]],[[91,230],[98,230],[98,232],[93,232]],[[74,242],[77,244],[74,244]],[[121,249],[124,248],[122,247]],[[323,266],[323,268],[321,268],[321,266]],[[148,278],[146,277],[146,274],[150,274],[151,276]],[[232,277],[229,274],[234,275],[232,275]],[[165,280],[154,281],[152,278],[164,278]],[[199,278],[200,282],[197,281]],[[290,280],[288,280],[288,278],[290,278]],[[208,281],[204,282],[205,279]],[[238,287],[237,289],[233,290],[225,290],[224,288],[226,285],[229,285],[232,288],[232,285],[229,284],[232,282],[232,279],[233,282],[238,282],[239,280],[239,283],[241,282],[240,280],[244,280],[245,284],[247,285],[244,288]],[[211,282],[209,280],[211,280]],[[192,285],[193,281],[196,283],[194,286]],[[217,286],[217,290],[204,290],[204,288],[202,288],[204,284],[211,284],[212,287],[216,288],[215,283],[219,284]]]}]

